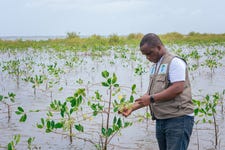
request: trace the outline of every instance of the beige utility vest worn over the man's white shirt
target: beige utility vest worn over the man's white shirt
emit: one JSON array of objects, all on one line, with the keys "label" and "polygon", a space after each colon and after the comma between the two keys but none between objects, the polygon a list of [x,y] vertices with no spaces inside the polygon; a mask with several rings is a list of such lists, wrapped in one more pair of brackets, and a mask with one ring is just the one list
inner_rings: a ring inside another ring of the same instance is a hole
[{"label": "beige utility vest worn over the man's white shirt", "polygon": [[[148,88],[148,93],[150,95],[159,93],[170,86],[168,81],[169,67],[171,60],[174,57],[174,55],[166,53],[158,67],[158,70],[154,71],[156,64],[154,64],[150,69],[150,82]],[[150,109],[152,115],[157,119],[167,119],[193,113],[194,106],[192,103],[191,85],[187,67],[183,92],[174,99],[167,101],[162,100],[151,104]]]}]

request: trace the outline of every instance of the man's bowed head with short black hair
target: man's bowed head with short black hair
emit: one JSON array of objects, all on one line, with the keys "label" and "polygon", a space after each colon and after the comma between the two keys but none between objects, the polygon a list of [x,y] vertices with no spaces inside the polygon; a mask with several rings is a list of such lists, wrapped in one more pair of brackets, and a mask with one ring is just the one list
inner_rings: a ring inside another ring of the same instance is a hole
[{"label": "man's bowed head with short black hair", "polygon": [[145,55],[149,61],[154,63],[157,63],[166,52],[162,41],[154,33],[146,34],[142,38],[140,49],[142,54]]}]

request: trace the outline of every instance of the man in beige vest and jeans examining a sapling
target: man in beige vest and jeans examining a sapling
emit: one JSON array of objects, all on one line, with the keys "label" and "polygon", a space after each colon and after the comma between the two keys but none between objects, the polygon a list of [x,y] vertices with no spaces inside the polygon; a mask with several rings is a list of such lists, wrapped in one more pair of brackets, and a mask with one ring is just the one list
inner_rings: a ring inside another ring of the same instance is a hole
[{"label": "man in beige vest and jeans examining a sapling", "polygon": [[149,33],[140,42],[140,50],[153,62],[146,94],[137,99],[131,109],[121,112],[129,116],[133,111],[149,106],[156,120],[156,138],[160,150],[186,150],[194,124],[191,85],[186,62],[170,54],[160,38]]}]

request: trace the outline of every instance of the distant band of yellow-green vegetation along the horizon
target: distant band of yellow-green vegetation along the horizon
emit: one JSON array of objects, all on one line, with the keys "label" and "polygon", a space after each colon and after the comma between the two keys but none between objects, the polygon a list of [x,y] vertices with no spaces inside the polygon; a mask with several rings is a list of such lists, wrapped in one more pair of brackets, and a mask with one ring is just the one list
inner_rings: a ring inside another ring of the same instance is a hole
[{"label": "distant band of yellow-green vegetation along the horizon", "polygon": [[[104,51],[112,46],[137,47],[142,33],[131,33],[127,36],[119,36],[116,34],[107,37],[100,35],[91,35],[89,37],[81,37],[75,32],[67,33],[64,39],[48,39],[48,40],[3,40],[0,39],[0,50],[26,50],[32,49],[54,49],[58,51]],[[224,34],[201,34],[190,32],[188,35],[183,35],[177,32],[171,32],[160,35],[165,44],[187,44],[187,45],[209,45],[209,44],[225,44]]]}]

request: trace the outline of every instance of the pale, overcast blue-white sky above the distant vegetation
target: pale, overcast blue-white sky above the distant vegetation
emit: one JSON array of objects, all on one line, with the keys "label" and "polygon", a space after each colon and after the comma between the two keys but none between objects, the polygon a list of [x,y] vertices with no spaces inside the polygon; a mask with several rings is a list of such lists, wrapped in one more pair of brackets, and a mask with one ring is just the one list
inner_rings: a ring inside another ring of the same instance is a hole
[{"label": "pale, overcast blue-white sky above the distant vegetation", "polygon": [[225,33],[225,0],[0,0],[0,36]]}]

